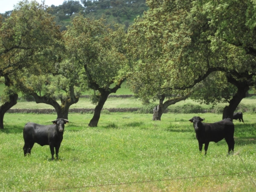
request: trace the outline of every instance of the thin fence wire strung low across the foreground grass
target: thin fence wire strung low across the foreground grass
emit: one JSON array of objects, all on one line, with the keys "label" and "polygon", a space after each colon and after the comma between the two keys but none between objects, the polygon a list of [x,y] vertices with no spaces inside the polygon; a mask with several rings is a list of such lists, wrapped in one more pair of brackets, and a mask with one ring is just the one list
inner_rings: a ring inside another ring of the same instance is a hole
[{"label": "thin fence wire strung low across the foreground grass", "polygon": [[[238,156],[239,156],[239,154],[238,154]],[[23,191],[23,192],[41,192],[41,191],[58,191],[58,190],[68,190],[68,189],[83,189],[83,188],[102,187],[102,186],[115,186],[115,185],[136,184],[136,183],[152,183],[152,182],[160,182],[160,181],[168,181],[168,180],[195,179],[195,178],[201,178],[201,177],[218,177],[218,176],[224,176],[224,175],[239,175],[239,174],[248,174],[250,177],[250,180],[252,181],[252,183],[254,184],[254,186],[256,188],[256,184],[253,181],[253,178],[250,176],[251,173],[256,173],[256,171],[248,171],[242,158],[240,156],[239,156],[239,158],[242,161],[242,163],[246,169],[246,172],[223,173],[223,174],[216,174],[216,175],[202,175],[202,176],[193,176],[193,177],[177,177],[177,178],[169,178],[169,179],[135,181],[135,182],[127,182],[127,183],[124,182],[124,183],[112,183],[112,184],[102,184],[102,185],[87,185],[87,186],[58,188],[58,189],[40,189],[40,190]]]}]

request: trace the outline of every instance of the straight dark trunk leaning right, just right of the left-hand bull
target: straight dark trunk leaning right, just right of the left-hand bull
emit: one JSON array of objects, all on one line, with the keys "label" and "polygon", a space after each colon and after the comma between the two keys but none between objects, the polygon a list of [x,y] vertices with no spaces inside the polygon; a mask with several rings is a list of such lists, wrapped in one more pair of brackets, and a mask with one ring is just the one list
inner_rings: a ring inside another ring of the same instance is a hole
[{"label": "straight dark trunk leaning right, just right of the left-hand bull", "polygon": [[99,102],[96,105],[95,110],[94,110],[93,118],[90,120],[90,123],[88,124],[89,127],[97,127],[98,122],[99,122],[99,118],[100,118],[101,110],[102,110],[105,102],[107,101],[109,94],[110,93],[108,93],[108,92],[102,92],[101,93],[100,98],[99,98]]}]

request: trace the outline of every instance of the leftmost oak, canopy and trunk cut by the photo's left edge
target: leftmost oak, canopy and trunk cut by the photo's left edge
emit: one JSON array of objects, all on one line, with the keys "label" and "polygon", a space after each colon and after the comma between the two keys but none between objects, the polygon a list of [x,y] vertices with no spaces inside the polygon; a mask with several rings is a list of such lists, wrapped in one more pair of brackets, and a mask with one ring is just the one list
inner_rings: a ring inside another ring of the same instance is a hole
[{"label": "leftmost oak, canopy and trunk cut by the photo's left edge", "polygon": [[4,113],[17,102],[17,90],[12,88],[17,75],[58,60],[52,50],[61,47],[61,33],[47,10],[44,4],[25,0],[15,6],[10,17],[0,18],[0,77],[7,90],[1,100],[0,128]]}]

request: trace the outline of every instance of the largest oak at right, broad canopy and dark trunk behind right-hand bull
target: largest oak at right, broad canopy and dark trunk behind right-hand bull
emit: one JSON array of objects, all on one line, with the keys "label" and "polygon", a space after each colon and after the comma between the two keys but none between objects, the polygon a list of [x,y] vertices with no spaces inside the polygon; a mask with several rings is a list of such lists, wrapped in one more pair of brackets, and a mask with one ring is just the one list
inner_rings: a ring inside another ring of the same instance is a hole
[{"label": "largest oak at right, broad canopy and dark trunk behind right-hand bull", "polygon": [[[212,72],[223,72],[225,81],[237,88],[224,110],[223,118],[232,118],[249,87],[255,85],[253,2],[147,3],[149,10],[131,28],[140,36],[133,53],[151,63],[164,61],[166,83],[162,87],[167,89],[191,88]],[[147,46],[143,41],[149,42]]]}]

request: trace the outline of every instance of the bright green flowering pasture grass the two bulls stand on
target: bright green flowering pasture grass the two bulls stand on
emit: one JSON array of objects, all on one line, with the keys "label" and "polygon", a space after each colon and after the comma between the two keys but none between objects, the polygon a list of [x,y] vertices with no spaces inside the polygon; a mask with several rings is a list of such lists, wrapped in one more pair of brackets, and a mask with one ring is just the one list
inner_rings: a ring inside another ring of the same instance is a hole
[{"label": "bright green flowering pasture grass the two bulls stand on", "polygon": [[5,129],[0,130],[0,189],[255,191],[256,116],[244,114],[244,123],[234,121],[234,155],[227,155],[227,144],[222,140],[211,142],[205,156],[198,151],[195,131],[188,121],[198,115],[205,122],[222,117],[167,113],[162,121],[151,121],[151,114],[110,113],[101,115],[98,127],[89,128],[92,114],[73,113],[65,126],[60,159],[51,161],[49,146],[38,144],[31,156],[23,157],[22,130],[28,121],[50,124],[55,115],[7,113]]}]

